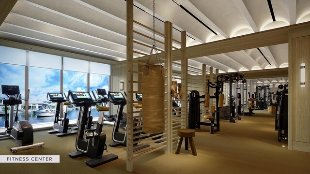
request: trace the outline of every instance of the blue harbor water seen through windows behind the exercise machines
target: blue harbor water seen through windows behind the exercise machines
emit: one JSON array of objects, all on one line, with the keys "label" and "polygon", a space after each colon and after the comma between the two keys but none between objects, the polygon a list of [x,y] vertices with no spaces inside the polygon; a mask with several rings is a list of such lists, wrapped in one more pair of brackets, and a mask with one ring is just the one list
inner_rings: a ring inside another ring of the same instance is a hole
[{"label": "blue harbor water seen through windows behind the exercise machines", "polygon": [[[99,112],[96,109],[92,109],[91,110],[91,116],[98,117]],[[78,109],[68,110],[67,111],[67,118],[69,118],[69,120],[76,120],[78,118]],[[18,115],[18,121],[19,120],[25,120],[25,114],[19,114]],[[4,127],[4,121],[5,121],[5,117],[0,116],[0,128]],[[35,114],[33,112],[31,112],[31,114],[29,114],[29,121],[31,124],[48,123],[48,122],[50,122],[52,124],[52,122],[54,121],[54,116],[37,117],[37,116],[35,116]]]}]

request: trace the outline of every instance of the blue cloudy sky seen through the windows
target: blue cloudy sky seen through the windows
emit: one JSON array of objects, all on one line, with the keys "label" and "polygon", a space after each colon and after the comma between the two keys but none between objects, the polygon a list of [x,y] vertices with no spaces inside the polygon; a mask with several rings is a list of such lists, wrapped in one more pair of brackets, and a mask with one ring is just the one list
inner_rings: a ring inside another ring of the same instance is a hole
[{"label": "blue cloudy sky seen through the windows", "polygon": [[[25,68],[19,65],[0,63],[0,85],[19,85],[22,98],[25,94]],[[109,76],[90,74],[91,90],[105,88],[109,90]],[[47,101],[47,92],[60,92],[60,70],[29,67],[29,103],[43,103]],[[87,91],[87,73],[63,71],[63,92]]]}]

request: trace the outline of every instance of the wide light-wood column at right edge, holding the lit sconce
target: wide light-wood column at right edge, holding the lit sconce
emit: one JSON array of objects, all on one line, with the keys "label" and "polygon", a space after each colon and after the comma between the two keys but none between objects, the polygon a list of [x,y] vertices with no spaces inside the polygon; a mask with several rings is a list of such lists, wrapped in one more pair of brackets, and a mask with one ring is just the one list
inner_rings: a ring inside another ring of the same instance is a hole
[{"label": "wide light-wood column at right edge, holding the lit sconce", "polygon": [[[289,149],[310,152],[310,27],[289,32]],[[305,63],[305,87],[300,64]]]}]

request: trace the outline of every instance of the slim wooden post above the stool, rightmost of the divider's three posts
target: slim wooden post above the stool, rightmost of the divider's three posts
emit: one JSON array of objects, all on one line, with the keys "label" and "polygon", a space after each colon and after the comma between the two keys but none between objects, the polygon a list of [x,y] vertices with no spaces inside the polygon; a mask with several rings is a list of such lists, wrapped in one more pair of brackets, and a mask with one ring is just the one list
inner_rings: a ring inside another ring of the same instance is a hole
[{"label": "slim wooden post above the stool, rightmost of the divider's three posts", "polygon": [[184,110],[185,116],[184,120],[185,120],[185,124],[182,125],[182,128],[186,128],[187,127],[187,120],[186,118],[187,116],[187,63],[188,60],[186,58],[186,31],[182,31],[181,32],[181,79],[182,79],[182,85],[183,85],[183,91],[184,91],[184,101],[181,102],[181,107],[182,110]]}]

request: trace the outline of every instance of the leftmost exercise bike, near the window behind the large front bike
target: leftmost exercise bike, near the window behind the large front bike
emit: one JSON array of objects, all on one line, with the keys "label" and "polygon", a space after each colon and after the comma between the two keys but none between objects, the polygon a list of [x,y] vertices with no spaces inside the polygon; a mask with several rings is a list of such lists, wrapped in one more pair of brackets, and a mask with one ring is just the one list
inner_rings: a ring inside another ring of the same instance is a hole
[{"label": "leftmost exercise bike, near the window behind the large front bike", "polygon": [[[69,102],[66,102],[62,93],[47,93],[47,100],[51,102],[56,102],[56,108],[54,113],[53,131],[47,131],[47,133],[56,133],[56,136],[61,137],[65,135],[72,135],[77,133],[76,131],[68,131],[69,128],[69,118],[67,118],[67,109]],[[63,117],[60,116],[60,105],[63,103],[64,112]]]}]

